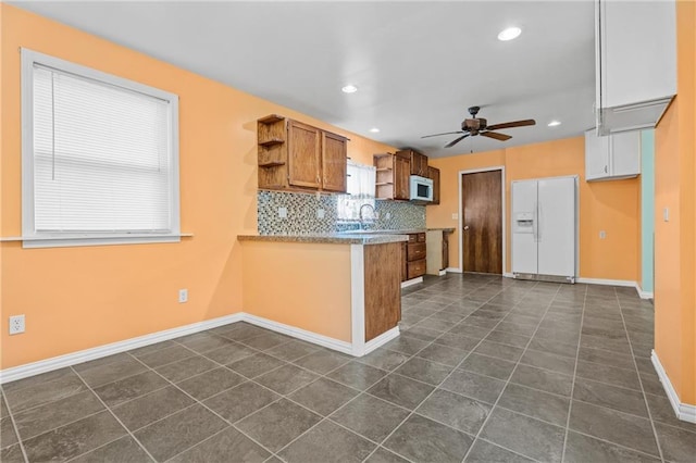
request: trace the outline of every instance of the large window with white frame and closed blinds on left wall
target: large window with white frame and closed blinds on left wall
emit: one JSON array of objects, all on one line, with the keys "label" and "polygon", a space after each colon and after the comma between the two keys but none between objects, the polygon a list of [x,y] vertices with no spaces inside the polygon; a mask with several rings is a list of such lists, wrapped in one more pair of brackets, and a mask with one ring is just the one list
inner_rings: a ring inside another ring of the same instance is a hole
[{"label": "large window with white frame and closed blinds on left wall", "polygon": [[22,50],[24,247],[179,240],[178,97]]}]

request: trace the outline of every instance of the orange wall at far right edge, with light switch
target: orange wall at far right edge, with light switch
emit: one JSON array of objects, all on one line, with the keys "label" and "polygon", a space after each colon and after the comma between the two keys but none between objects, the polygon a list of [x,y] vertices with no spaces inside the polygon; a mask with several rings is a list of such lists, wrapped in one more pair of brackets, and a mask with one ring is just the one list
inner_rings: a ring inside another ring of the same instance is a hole
[{"label": "orange wall at far right edge, with light switch", "polygon": [[[696,404],[696,3],[676,2],[676,98],[655,132],[655,351]],[[669,209],[670,220],[662,220]]]}]

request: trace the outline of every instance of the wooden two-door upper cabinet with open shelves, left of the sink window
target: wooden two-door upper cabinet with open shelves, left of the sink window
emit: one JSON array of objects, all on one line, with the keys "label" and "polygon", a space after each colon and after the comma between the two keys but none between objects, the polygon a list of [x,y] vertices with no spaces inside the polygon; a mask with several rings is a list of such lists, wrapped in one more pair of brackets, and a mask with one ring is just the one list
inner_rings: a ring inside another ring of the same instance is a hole
[{"label": "wooden two-door upper cabinet with open shelves, left of the sink window", "polygon": [[259,188],[346,191],[347,138],[275,114],[257,129]]}]

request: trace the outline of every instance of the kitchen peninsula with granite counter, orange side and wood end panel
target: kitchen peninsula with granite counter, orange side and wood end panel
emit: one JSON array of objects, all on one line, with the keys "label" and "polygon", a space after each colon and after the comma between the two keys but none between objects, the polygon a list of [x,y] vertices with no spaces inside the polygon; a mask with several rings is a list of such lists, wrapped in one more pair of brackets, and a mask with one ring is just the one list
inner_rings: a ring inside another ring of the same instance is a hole
[{"label": "kitchen peninsula with granite counter, orange side and wood end panel", "polygon": [[399,335],[406,235],[240,235],[246,320],[351,355]]}]

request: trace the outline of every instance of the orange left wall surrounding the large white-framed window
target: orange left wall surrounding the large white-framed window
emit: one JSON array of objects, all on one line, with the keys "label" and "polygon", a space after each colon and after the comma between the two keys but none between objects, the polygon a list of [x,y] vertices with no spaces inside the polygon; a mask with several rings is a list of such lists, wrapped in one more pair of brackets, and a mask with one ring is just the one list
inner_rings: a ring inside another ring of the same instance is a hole
[{"label": "orange left wall surrounding the large white-framed window", "polygon": [[[236,236],[257,229],[258,117],[279,113],[345,134],[348,155],[363,163],[390,149],[4,3],[0,17],[0,236],[22,230],[18,47],[179,96],[182,230],[194,234],[162,245],[1,243],[1,368],[240,311]],[[188,288],[188,303],[177,303],[179,288]],[[27,330],[10,337],[15,314],[26,315]]]}]

